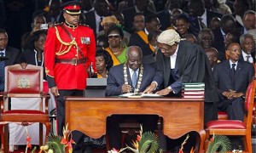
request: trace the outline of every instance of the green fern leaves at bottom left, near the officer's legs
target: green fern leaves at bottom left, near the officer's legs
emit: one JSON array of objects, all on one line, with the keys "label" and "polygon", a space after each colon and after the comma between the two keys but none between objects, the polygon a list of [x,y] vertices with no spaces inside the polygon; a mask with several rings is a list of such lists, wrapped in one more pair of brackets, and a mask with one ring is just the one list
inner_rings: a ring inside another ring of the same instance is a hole
[{"label": "green fern leaves at bottom left, near the officer's legs", "polygon": [[65,152],[65,145],[61,144],[61,136],[57,136],[54,134],[49,134],[46,138],[46,144],[49,145],[49,148],[54,150],[55,153],[64,153]]}]

